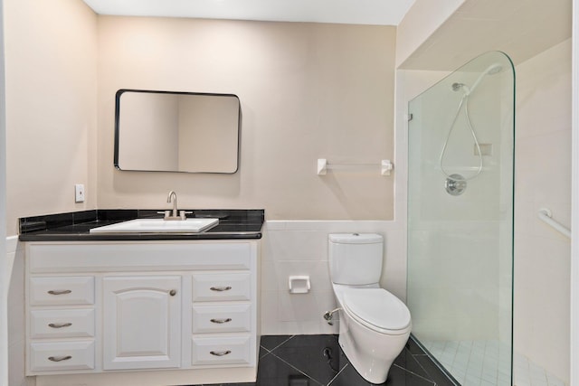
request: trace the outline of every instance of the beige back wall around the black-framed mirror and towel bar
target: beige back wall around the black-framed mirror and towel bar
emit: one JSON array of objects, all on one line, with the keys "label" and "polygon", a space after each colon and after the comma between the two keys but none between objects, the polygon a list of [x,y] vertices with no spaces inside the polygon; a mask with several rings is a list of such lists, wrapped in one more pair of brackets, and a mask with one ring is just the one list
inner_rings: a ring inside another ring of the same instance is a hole
[{"label": "beige back wall around the black-framed mirror and towel bar", "polygon": [[[99,17],[99,207],[264,208],[269,219],[393,218],[394,177],[316,174],[394,158],[394,27]],[[117,89],[233,93],[237,174],[113,168]]]}]

